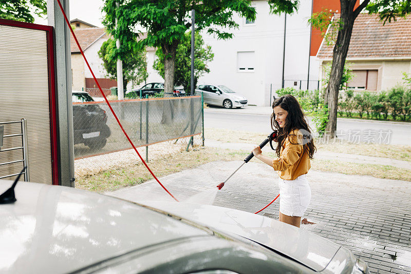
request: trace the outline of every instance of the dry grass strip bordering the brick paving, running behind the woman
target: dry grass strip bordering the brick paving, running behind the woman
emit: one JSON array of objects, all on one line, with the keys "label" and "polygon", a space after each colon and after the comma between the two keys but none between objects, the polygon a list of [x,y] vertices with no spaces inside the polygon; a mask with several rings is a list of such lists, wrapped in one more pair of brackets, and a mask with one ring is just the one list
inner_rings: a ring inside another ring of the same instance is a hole
[{"label": "dry grass strip bordering the brick paving, running behind the woman", "polygon": [[[185,169],[196,168],[204,163],[212,161],[244,160],[249,151],[230,151],[216,148],[194,147],[189,152],[182,150],[179,153],[165,155],[164,157],[150,160],[148,166],[154,174],[160,178]],[[276,158],[274,152],[266,153],[268,157]],[[261,163],[253,158],[251,161]],[[339,172],[349,175],[369,175],[377,178],[411,181],[411,172],[391,166],[365,165],[333,160],[311,161],[313,170],[326,172]],[[131,187],[153,179],[143,163],[130,163],[117,169],[104,170],[94,175],[78,177],[76,188],[87,189],[96,192],[114,191],[119,188]]]}]

